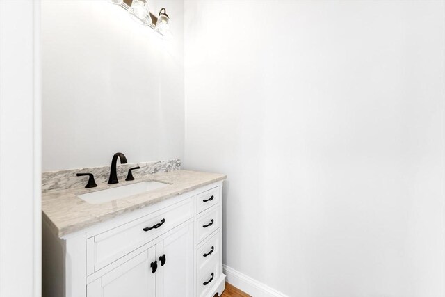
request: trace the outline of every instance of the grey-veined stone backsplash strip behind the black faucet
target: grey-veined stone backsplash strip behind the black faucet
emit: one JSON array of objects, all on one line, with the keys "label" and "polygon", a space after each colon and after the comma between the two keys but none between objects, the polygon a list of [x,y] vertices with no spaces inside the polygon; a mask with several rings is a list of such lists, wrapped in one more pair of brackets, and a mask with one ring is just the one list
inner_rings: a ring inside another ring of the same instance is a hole
[{"label": "grey-veined stone backsplash strip behind the black faucet", "polygon": [[[181,168],[181,160],[174,159],[156,162],[118,164],[118,177],[120,179],[125,179],[125,177],[127,177],[129,168],[137,166],[139,166],[140,169],[133,170],[133,177],[136,179],[144,177],[145,175],[154,174],[156,172],[179,170]],[[95,176],[95,181],[97,184],[104,183],[108,182],[108,177],[110,176],[110,166],[43,172],[42,192],[67,188],[83,188],[88,182],[88,177],[78,177],[76,176],[76,173],[92,173]]]}]

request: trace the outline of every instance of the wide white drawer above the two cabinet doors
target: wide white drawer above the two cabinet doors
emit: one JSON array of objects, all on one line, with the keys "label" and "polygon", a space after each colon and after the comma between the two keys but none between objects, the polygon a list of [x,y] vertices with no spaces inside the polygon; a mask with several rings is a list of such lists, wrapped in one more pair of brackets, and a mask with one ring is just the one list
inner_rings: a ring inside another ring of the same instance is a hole
[{"label": "wide white drawer above the two cabinet doors", "polygon": [[90,275],[132,250],[184,223],[193,216],[188,198],[87,239],[87,274]]}]

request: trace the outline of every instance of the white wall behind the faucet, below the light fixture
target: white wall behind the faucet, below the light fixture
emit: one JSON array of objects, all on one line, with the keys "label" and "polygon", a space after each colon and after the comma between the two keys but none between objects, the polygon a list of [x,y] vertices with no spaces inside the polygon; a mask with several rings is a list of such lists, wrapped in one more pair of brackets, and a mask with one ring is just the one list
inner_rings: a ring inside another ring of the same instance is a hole
[{"label": "white wall behind the faucet, below the light fixture", "polygon": [[105,0],[42,1],[42,169],[183,158],[184,1],[165,42]]}]

